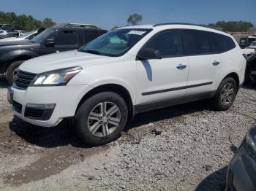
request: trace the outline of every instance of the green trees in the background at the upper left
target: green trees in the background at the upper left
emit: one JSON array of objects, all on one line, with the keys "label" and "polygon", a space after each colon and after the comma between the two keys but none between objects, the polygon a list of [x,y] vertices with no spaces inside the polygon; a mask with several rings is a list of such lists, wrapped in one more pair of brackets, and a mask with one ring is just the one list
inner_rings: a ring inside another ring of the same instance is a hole
[{"label": "green trees in the background at the upper left", "polygon": [[0,12],[0,23],[10,24],[23,31],[32,31],[41,27],[48,28],[56,24],[51,18],[41,21],[34,19],[31,15],[16,15],[14,12]]}]

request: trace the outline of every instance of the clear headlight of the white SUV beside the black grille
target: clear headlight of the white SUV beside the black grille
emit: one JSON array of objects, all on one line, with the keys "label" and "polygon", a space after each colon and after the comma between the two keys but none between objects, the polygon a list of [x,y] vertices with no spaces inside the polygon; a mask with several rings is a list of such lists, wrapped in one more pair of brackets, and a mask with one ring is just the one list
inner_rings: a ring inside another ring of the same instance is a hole
[{"label": "clear headlight of the white SUV beside the black grille", "polygon": [[38,74],[31,82],[31,86],[59,86],[67,85],[67,83],[78,74],[82,68],[80,66],[67,69],[59,69],[47,71]]}]

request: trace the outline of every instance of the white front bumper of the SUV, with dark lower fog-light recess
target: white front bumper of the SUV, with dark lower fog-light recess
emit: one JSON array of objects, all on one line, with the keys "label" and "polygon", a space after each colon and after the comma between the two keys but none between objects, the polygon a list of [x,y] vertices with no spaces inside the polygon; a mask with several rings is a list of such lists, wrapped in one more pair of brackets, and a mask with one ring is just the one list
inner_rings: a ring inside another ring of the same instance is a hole
[{"label": "white front bumper of the SUV, with dark lower fog-light recess", "polygon": [[56,126],[64,118],[75,116],[81,98],[89,90],[89,85],[28,87],[26,90],[12,87],[12,112],[33,125]]}]

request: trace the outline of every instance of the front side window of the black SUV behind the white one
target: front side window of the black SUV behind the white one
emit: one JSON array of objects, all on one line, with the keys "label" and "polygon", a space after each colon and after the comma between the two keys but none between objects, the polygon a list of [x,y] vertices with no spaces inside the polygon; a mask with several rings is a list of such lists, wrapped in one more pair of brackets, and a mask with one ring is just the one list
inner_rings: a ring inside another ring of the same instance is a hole
[{"label": "front side window of the black SUV behind the white one", "polygon": [[76,31],[59,31],[54,39],[56,45],[71,45],[78,43]]}]

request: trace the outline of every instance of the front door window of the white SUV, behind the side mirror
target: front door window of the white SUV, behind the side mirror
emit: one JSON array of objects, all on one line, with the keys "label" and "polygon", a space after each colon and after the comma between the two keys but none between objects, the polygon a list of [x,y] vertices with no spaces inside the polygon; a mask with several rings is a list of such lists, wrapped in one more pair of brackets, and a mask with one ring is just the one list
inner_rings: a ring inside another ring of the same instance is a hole
[{"label": "front door window of the white SUV, behind the side mirror", "polygon": [[164,31],[153,36],[145,46],[159,50],[163,58],[182,55],[181,35],[179,31]]}]

